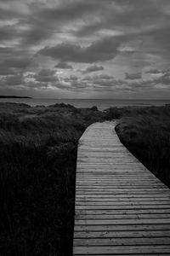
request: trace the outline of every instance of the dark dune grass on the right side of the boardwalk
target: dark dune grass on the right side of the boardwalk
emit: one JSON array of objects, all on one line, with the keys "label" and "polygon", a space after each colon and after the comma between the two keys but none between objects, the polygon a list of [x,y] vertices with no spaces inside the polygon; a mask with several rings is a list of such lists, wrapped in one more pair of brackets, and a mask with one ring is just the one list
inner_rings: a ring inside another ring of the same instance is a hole
[{"label": "dark dune grass on the right side of the boardwalk", "polygon": [[122,113],[116,132],[129,151],[170,188],[170,108]]}]

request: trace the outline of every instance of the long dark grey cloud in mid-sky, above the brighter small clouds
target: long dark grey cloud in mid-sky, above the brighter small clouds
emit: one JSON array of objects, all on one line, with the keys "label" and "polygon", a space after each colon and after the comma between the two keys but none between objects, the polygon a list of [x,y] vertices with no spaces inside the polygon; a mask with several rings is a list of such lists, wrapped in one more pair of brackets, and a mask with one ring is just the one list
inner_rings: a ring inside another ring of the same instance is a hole
[{"label": "long dark grey cloud in mid-sky, above the brighter small clouds", "polygon": [[45,47],[38,53],[47,55],[59,61],[93,63],[95,61],[107,61],[116,56],[120,45],[116,38],[104,38],[87,47],[78,44],[57,44],[54,47]]}]

